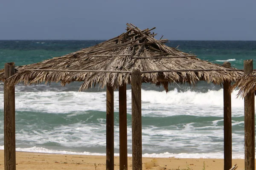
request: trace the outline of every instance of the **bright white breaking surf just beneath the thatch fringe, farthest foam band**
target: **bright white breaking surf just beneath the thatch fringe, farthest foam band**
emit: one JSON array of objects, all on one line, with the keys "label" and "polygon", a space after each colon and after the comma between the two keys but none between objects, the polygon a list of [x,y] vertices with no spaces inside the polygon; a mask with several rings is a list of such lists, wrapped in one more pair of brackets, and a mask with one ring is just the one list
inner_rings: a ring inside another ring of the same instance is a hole
[{"label": "bright white breaking surf just beneath the thatch fringe, farthest foam band", "polygon": [[[233,116],[242,116],[244,102],[232,94]],[[114,111],[118,111],[118,92],[114,93]],[[127,91],[128,113],[131,113],[131,90]],[[0,92],[0,110],[3,109],[3,92]],[[71,113],[84,111],[105,111],[105,92],[76,91],[16,91],[16,110],[43,113]],[[142,113],[145,116],[223,116],[223,90],[208,90],[206,93],[177,89],[169,91],[142,90]]]}]

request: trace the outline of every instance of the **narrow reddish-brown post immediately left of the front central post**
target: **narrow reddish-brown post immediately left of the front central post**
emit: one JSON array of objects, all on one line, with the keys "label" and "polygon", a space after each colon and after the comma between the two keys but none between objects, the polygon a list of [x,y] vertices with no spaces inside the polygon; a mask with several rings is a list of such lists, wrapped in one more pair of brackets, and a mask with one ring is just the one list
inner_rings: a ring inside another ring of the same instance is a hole
[{"label": "narrow reddish-brown post immediately left of the front central post", "polygon": [[119,170],[127,170],[127,104],[126,84],[119,87]]}]

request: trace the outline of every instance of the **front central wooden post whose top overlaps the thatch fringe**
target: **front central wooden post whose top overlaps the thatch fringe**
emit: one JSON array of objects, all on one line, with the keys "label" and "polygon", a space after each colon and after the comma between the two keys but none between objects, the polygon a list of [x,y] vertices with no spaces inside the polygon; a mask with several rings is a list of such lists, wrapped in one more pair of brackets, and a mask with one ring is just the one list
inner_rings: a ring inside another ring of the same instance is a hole
[{"label": "front central wooden post whose top overlaps the thatch fringe", "polygon": [[142,170],[141,73],[131,73],[132,169]]}]

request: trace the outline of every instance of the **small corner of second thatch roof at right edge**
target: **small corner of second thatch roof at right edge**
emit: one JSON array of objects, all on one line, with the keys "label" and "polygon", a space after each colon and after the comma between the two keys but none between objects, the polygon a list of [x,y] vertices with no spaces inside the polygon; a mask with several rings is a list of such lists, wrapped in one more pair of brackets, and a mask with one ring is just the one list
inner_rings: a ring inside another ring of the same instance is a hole
[{"label": "small corner of second thatch roof at right edge", "polygon": [[256,93],[256,71],[246,74],[236,81],[236,83],[230,88],[230,92],[236,87],[239,87],[238,96],[244,98],[249,92],[254,91]]}]

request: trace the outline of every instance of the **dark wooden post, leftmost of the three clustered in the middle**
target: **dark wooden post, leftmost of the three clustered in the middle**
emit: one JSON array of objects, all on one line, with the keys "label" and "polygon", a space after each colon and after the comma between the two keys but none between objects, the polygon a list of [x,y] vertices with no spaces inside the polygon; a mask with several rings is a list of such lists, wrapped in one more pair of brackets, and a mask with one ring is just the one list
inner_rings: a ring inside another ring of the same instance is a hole
[{"label": "dark wooden post, leftmost of the three clustered in the middle", "polygon": [[107,85],[106,170],[114,170],[114,90]]}]

